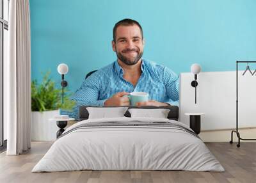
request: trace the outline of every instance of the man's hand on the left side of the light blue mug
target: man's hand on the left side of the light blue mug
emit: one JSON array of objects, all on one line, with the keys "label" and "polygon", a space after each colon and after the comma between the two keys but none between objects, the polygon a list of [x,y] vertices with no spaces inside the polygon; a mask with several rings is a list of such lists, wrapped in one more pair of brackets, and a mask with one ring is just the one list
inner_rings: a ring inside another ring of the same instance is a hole
[{"label": "man's hand on the left side of the light blue mug", "polygon": [[129,95],[127,92],[118,92],[113,97],[105,101],[104,106],[129,106],[129,98],[123,97],[124,95]]}]

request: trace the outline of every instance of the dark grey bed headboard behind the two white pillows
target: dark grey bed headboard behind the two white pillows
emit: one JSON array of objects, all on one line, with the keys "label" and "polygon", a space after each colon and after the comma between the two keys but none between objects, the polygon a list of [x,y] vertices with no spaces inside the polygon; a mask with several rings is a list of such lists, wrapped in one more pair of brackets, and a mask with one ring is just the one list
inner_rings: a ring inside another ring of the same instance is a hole
[{"label": "dark grey bed headboard behind the two white pillows", "polygon": [[[81,120],[87,120],[89,113],[86,110],[86,107],[97,107],[97,106],[80,106],[79,107],[79,121]],[[106,106],[104,106],[106,107]],[[108,106],[108,107],[117,107],[117,106]],[[126,106],[131,108],[141,108],[141,109],[170,109],[170,112],[168,113],[168,119],[170,120],[179,120],[179,107],[178,106],[141,106],[141,107],[136,107],[136,106]],[[126,117],[131,117],[131,114],[129,111],[126,111],[124,114]]]}]

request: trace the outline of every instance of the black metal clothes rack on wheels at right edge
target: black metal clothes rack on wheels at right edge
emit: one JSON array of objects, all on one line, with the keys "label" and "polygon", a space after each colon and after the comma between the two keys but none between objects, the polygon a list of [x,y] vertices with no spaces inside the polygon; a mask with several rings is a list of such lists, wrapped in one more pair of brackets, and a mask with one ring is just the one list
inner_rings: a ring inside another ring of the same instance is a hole
[{"label": "black metal clothes rack on wheels at right edge", "polygon": [[241,138],[238,131],[239,130],[238,129],[238,64],[239,63],[256,63],[256,61],[236,61],[236,131],[231,132],[231,140],[229,142],[233,143],[233,132],[235,132],[238,138],[238,144],[236,145],[237,147],[240,147],[240,140],[256,140],[256,139]]}]

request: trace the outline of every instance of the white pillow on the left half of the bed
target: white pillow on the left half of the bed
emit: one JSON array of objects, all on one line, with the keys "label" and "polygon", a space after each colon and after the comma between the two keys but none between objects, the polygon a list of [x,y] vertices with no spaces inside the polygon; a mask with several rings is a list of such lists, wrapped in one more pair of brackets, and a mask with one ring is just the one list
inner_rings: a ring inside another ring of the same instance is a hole
[{"label": "white pillow on the left half of the bed", "polygon": [[128,107],[86,107],[89,119],[125,117]]}]

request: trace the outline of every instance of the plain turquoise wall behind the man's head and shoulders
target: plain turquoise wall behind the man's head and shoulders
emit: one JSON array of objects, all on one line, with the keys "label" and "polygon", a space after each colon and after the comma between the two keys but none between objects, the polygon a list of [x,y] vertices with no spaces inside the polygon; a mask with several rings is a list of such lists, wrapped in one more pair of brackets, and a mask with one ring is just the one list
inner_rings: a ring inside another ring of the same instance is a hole
[{"label": "plain turquoise wall behind the man's head and shoulders", "polygon": [[143,58],[189,72],[236,70],[236,60],[256,60],[256,1],[251,0],[30,0],[32,79],[67,63],[73,92],[84,75],[116,60],[112,29],[131,18],[143,27]]}]

